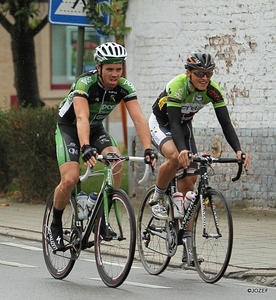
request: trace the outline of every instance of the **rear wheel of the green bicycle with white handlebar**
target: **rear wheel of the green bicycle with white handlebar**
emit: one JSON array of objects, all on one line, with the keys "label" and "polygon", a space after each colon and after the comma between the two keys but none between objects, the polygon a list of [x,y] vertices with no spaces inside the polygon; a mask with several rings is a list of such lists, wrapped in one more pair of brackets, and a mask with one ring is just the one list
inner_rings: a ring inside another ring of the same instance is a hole
[{"label": "rear wheel of the green bicycle with white handlebar", "polygon": [[[56,279],[65,278],[72,270],[75,264],[75,253],[68,249],[66,251],[54,251],[49,243],[48,231],[53,219],[53,198],[54,192],[52,192],[49,200],[46,204],[46,209],[43,217],[43,226],[42,226],[42,247],[43,247],[43,256],[50,274]],[[70,203],[64,209],[62,215],[62,224],[63,224],[63,240],[64,245],[68,245],[71,239],[72,233],[72,224],[74,219],[74,199],[70,200]],[[76,238],[76,236],[75,236]]]}]

